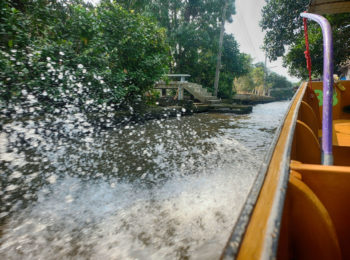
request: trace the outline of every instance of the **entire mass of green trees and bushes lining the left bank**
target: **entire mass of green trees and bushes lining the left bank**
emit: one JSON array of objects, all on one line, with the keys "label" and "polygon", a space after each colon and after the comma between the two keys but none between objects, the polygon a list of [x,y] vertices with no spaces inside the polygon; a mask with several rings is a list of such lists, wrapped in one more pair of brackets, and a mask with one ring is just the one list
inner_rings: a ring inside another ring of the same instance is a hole
[{"label": "entire mass of green trees and bushes lining the left bank", "polygon": [[[169,72],[188,73],[214,91],[221,19],[232,22],[235,14],[234,1],[225,3],[1,1],[1,106],[96,112],[155,104],[154,83]],[[231,98],[240,77],[260,75],[243,86],[263,88],[258,94],[283,81],[271,73],[261,85],[261,64],[252,65],[233,35],[225,34],[222,44],[219,97]],[[290,94],[290,84],[284,87]]]}]

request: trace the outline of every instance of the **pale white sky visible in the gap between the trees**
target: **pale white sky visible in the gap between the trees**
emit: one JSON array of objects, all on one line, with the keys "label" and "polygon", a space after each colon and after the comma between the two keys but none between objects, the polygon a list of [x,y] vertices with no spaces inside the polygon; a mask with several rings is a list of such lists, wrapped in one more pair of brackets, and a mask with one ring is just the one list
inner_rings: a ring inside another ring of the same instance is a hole
[{"label": "pale white sky visible in the gap between the trees", "polygon": [[[259,21],[261,20],[261,10],[265,5],[265,0],[235,0],[236,15],[233,16],[233,23],[226,24],[226,33],[234,35],[240,45],[240,51],[250,54],[254,63],[264,62],[265,54],[261,49],[264,43],[264,35]],[[288,70],[282,66],[282,58],[275,62],[267,60],[267,67],[289,79],[298,82],[299,79],[288,75]]]}]

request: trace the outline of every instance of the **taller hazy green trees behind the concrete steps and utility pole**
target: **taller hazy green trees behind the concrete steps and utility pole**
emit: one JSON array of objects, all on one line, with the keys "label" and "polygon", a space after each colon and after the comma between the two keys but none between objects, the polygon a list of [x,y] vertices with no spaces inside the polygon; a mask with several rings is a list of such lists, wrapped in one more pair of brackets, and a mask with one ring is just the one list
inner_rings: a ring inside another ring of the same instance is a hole
[{"label": "taller hazy green trees behind the concrete steps and utility pole", "polygon": [[[224,0],[136,0],[118,1],[129,10],[153,17],[167,30],[171,46],[172,73],[190,74],[192,82],[213,91],[218,53],[220,20]],[[226,21],[232,22],[235,2],[229,1]],[[219,96],[229,97],[233,78],[246,70],[244,55],[232,35],[225,35]],[[242,69],[243,68],[243,69]]]}]

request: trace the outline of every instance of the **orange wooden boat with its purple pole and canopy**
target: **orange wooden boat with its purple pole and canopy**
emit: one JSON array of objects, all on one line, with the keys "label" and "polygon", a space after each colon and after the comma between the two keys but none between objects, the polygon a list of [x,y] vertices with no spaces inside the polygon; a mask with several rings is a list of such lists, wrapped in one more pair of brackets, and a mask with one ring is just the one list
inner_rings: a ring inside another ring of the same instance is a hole
[{"label": "orange wooden boat with its purple pole and canopy", "polygon": [[[350,2],[310,8],[349,12]],[[295,94],[222,259],[350,259],[350,81],[333,82],[327,20],[301,16],[322,27],[323,82]]]}]

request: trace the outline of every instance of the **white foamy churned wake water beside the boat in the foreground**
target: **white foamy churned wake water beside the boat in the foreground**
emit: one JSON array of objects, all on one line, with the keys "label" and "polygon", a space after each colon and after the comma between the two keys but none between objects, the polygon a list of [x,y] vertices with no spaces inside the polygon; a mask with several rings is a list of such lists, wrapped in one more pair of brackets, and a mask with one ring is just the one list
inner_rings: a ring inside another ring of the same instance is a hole
[{"label": "white foamy churned wake water beside the boat in the foreground", "polygon": [[5,226],[0,256],[66,258],[79,248],[92,259],[217,258],[253,177],[223,168],[152,189],[67,177]]}]

